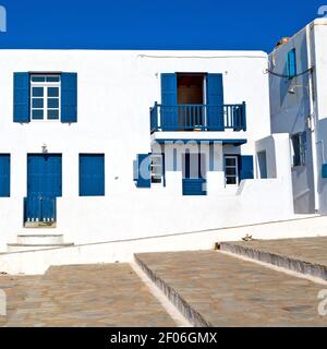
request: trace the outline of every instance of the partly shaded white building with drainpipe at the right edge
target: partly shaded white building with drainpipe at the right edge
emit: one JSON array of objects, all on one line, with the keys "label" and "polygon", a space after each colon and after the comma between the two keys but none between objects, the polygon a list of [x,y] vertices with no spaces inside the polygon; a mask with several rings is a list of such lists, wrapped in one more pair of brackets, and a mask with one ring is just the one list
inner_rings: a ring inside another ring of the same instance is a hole
[{"label": "partly shaded white building with drainpipe at the right edge", "polygon": [[327,213],[327,19],[269,55],[271,132],[289,133],[296,213]]}]

